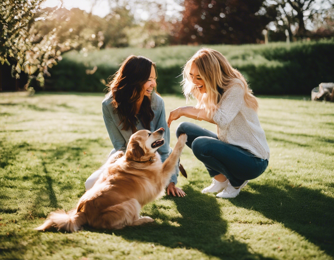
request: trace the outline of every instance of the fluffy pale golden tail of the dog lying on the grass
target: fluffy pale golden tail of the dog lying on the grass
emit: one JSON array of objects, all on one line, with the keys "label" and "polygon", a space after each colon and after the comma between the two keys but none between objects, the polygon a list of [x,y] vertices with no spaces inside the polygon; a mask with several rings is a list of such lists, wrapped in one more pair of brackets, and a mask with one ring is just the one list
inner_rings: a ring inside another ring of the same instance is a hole
[{"label": "fluffy pale golden tail of the dog lying on the grass", "polygon": [[83,212],[76,212],[76,209],[67,213],[64,210],[57,210],[51,212],[44,224],[35,228],[35,230],[45,230],[55,227],[58,228],[58,230],[63,229],[67,232],[75,232],[86,223],[87,218]]}]

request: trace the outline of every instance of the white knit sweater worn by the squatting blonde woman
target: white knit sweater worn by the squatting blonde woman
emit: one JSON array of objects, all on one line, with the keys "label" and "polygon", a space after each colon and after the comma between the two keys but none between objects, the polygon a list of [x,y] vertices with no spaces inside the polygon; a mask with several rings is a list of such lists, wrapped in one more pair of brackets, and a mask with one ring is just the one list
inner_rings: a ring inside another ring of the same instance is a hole
[{"label": "white knit sweater worn by the squatting blonde woman", "polygon": [[239,146],[256,157],[269,160],[270,151],[265,131],[261,128],[257,112],[246,106],[244,94],[245,91],[239,84],[232,85],[223,94],[213,116],[218,138]]}]

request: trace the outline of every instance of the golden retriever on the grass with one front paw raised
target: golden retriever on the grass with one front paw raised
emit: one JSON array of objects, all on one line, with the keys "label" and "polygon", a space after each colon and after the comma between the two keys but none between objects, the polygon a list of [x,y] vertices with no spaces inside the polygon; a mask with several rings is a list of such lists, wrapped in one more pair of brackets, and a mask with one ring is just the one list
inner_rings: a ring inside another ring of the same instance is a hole
[{"label": "golden retriever on the grass with one front paw raised", "polygon": [[164,144],[163,135],[163,128],[134,133],[125,154],[119,151],[107,160],[105,170],[75,209],[51,212],[35,229],[55,227],[74,232],[87,223],[97,229],[121,229],[153,222],[150,217],[140,217],[139,212],[161,196],[187,141],[186,134],[180,135],[173,152],[162,163],[156,150]]}]

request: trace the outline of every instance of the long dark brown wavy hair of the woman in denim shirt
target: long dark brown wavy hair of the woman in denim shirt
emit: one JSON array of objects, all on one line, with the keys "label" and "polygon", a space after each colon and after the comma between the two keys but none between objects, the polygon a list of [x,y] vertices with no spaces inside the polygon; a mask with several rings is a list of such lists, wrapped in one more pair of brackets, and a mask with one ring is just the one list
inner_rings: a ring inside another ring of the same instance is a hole
[{"label": "long dark brown wavy hair of the woman in denim shirt", "polygon": [[[144,84],[148,81],[151,75],[152,65],[157,75],[155,63],[143,56],[131,55],[127,57],[121,64],[120,69],[116,72],[113,80],[108,84],[108,93],[106,99],[113,97],[111,102],[115,108],[115,112],[119,114],[122,130],[129,130],[132,133],[137,131],[135,126],[139,119],[145,129],[151,130],[150,122],[154,118],[154,113],[151,108],[151,100],[144,96],[143,103],[139,113],[136,115],[137,101],[144,95]],[[156,91],[156,87],[154,88]]]}]

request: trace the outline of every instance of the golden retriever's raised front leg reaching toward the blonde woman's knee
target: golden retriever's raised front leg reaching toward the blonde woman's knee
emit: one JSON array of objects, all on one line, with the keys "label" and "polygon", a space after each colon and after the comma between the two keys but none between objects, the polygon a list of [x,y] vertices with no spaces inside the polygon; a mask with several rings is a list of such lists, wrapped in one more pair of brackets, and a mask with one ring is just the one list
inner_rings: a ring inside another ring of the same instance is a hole
[{"label": "golden retriever's raised front leg reaching toward the blonde woman's knee", "polygon": [[174,150],[162,164],[163,176],[164,179],[166,179],[167,181],[170,179],[173,170],[175,169],[175,165],[179,161],[182,149],[186,142],[187,142],[187,135],[181,134],[179,136],[179,139],[177,140]]}]

